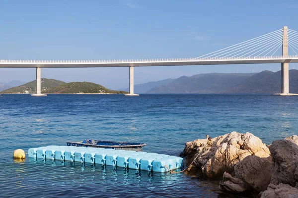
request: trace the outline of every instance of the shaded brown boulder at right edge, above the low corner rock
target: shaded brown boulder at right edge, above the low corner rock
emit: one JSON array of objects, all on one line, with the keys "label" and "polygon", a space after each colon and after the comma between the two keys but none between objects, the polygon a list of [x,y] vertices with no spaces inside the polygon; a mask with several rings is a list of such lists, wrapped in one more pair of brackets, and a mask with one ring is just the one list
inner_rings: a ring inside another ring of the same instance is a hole
[{"label": "shaded brown boulder at right edge, above the low corner rock", "polygon": [[277,140],[270,146],[273,157],[271,183],[289,184],[298,182],[298,146],[289,140]]}]

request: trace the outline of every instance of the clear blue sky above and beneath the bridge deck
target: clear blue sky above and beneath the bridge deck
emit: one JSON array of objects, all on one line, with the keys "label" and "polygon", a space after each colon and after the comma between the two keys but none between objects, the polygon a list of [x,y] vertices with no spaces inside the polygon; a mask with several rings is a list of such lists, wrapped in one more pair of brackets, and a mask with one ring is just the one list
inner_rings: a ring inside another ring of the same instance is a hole
[{"label": "clear blue sky above and beneath the bridge deck", "polygon": [[[283,26],[298,31],[297,19],[297,0],[1,0],[0,59],[197,57]],[[280,64],[138,67],[135,84],[268,69],[278,71]],[[41,72],[44,78],[111,89],[129,85],[128,68]],[[35,69],[0,68],[0,82],[34,79]]]}]

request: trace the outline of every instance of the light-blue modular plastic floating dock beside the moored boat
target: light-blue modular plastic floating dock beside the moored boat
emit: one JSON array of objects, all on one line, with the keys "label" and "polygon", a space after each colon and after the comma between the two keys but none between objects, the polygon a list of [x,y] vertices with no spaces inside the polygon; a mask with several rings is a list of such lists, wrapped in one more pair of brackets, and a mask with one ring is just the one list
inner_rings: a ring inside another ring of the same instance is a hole
[{"label": "light-blue modular plastic floating dock beside the moored boat", "polygon": [[182,167],[181,157],[107,148],[47,146],[29,148],[28,156],[35,159],[75,161],[160,173],[169,171],[165,166],[171,170]]}]

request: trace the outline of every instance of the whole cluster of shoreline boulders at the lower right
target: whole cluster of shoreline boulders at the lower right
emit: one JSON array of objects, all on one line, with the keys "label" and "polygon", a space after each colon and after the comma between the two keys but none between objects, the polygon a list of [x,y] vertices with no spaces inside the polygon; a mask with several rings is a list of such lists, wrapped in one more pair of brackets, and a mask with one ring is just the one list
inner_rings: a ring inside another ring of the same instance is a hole
[{"label": "whole cluster of shoreline boulders at the lower right", "polygon": [[251,133],[232,132],[188,142],[181,153],[186,172],[221,179],[226,193],[261,198],[298,198],[298,136],[266,146]]}]

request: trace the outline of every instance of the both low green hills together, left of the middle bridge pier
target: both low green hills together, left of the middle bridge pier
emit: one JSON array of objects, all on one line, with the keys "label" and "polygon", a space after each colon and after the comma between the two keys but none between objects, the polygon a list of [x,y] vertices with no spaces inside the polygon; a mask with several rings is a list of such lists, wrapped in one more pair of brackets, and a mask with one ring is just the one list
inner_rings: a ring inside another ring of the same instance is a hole
[{"label": "both low green hills together, left of the middle bridge pier", "polygon": [[[12,87],[0,94],[34,94],[36,82],[31,81],[24,85]],[[41,92],[44,94],[126,94],[124,91],[109,90],[101,85],[89,82],[66,83],[54,79],[41,79]]]}]

